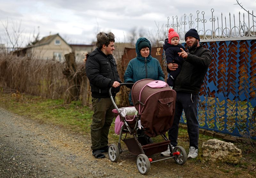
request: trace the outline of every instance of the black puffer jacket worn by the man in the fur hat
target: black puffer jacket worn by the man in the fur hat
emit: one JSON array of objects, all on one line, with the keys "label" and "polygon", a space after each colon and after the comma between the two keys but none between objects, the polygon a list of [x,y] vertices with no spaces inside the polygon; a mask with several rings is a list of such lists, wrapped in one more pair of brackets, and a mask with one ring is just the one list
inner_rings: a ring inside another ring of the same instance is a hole
[{"label": "black puffer jacket worn by the man in the fur hat", "polygon": [[[87,58],[85,70],[90,81],[92,97],[107,98],[108,89],[114,81],[121,83],[115,58],[112,55],[105,55],[99,48],[92,51]],[[119,90],[120,87],[113,88],[112,95],[116,96]]]}]

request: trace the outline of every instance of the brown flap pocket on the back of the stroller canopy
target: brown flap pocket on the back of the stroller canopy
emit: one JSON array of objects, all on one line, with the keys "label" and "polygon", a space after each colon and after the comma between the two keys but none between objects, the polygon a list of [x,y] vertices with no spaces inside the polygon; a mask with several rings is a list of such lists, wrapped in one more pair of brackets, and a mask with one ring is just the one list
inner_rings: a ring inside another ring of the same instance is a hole
[{"label": "brown flap pocket on the back of the stroller canopy", "polygon": [[173,113],[173,97],[158,99],[157,117],[172,116]]}]

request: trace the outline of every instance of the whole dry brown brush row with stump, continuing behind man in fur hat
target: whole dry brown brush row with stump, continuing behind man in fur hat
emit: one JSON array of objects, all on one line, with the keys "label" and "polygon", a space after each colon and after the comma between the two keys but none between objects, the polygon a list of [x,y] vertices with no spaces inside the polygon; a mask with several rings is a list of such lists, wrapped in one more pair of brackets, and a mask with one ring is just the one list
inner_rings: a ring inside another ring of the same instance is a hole
[{"label": "whole dry brown brush row with stump, continuing behind man in fur hat", "polygon": [[[116,62],[121,81],[124,81],[125,69],[121,66],[121,59],[117,59]],[[53,60],[0,55],[0,86],[12,93],[64,99],[64,103],[79,99],[83,105],[91,105],[90,85],[84,63],[71,66],[67,61],[60,63]],[[79,90],[76,92],[78,96],[74,95],[74,90]],[[119,106],[129,106],[129,91],[130,89],[121,87],[116,97]]]}]

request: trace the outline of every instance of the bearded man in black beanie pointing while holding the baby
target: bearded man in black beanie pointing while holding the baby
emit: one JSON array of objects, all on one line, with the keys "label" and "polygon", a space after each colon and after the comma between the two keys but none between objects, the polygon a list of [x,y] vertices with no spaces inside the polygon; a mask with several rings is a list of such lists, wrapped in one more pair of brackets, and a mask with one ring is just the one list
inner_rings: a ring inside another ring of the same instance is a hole
[{"label": "bearded man in black beanie pointing while holding the baby", "polygon": [[[184,110],[189,136],[188,159],[192,159],[198,155],[199,124],[196,109],[198,94],[212,60],[212,52],[199,44],[200,37],[194,28],[185,34],[185,41],[189,52],[180,48],[179,56],[184,58],[184,63],[175,81],[174,90],[177,93],[175,115],[168,136],[172,146],[177,146],[179,122],[182,110]],[[169,70],[177,68],[178,64],[172,64],[172,69]]]}]

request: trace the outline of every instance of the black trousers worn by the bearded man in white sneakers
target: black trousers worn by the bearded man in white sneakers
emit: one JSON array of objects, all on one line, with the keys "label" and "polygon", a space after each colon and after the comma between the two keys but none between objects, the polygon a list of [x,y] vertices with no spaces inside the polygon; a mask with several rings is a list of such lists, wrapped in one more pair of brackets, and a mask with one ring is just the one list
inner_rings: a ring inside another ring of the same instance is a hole
[{"label": "black trousers worn by the bearded man in white sneakers", "polygon": [[198,138],[199,138],[199,127],[197,120],[197,101],[198,94],[191,94],[186,92],[177,92],[175,113],[173,119],[173,125],[168,131],[169,140],[172,146],[177,146],[179,123],[182,110],[184,109],[185,116],[187,119],[188,136],[189,136],[189,147],[193,146],[198,149]]}]

